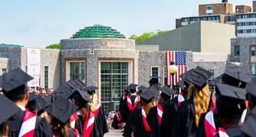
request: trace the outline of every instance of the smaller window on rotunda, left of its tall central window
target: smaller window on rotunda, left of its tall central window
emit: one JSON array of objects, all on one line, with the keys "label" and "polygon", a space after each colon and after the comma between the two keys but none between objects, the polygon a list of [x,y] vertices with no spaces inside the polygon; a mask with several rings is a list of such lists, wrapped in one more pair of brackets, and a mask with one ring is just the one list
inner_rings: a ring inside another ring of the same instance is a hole
[{"label": "smaller window on rotunda, left of its tall central window", "polygon": [[71,62],[71,79],[79,79],[85,81],[84,62]]}]

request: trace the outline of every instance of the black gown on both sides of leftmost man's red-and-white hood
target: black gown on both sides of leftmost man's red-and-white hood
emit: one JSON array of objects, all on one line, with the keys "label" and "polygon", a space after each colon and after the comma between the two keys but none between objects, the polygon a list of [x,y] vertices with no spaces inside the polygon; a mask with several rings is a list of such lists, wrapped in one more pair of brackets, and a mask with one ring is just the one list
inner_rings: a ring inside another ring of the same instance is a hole
[{"label": "black gown on both sides of leftmost man's red-and-white hood", "polygon": [[[9,137],[17,137],[18,133],[21,129],[21,124],[23,120],[25,111],[19,110],[14,116],[11,116],[8,119],[8,136]],[[41,118],[40,116],[36,117],[35,129],[34,129],[34,137],[41,136],[53,136],[53,132],[49,123],[46,119]]]}]

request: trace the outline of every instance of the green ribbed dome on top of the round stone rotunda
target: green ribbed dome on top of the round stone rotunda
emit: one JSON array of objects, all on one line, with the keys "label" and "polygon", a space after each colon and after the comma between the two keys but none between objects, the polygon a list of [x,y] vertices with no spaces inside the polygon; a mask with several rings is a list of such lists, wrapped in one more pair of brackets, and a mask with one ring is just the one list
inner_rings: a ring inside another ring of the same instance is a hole
[{"label": "green ribbed dome on top of the round stone rotunda", "polygon": [[124,35],[111,27],[102,25],[94,25],[92,27],[84,27],[79,30],[71,38],[125,38]]}]

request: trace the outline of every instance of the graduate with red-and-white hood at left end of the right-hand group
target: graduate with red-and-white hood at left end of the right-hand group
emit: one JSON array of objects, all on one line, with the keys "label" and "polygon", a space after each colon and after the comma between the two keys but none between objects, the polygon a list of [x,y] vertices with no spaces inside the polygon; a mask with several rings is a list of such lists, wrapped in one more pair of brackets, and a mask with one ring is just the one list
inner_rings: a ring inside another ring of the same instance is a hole
[{"label": "graduate with red-and-white hood at left end of the right-hand group", "polygon": [[125,124],[123,130],[123,136],[131,136],[133,132],[133,128],[130,123],[130,115],[133,113],[137,105],[139,103],[139,97],[136,94],[136,84],[130,84],[127,88],[130,91],[130,94],[126,96],[123,105],[123,123]]}]

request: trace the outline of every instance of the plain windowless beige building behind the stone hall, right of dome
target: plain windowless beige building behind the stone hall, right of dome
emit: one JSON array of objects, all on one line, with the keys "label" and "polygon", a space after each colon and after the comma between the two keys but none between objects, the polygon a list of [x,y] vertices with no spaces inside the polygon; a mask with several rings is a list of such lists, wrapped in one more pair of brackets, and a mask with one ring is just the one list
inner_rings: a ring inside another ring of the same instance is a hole
[{"label": "plain windowless beige building behind the stone hall, right of dome", "polygon": [[199,21],[157,37],[143,40],[138,45],[159,45],[159,50],[185,50],[200,53],[230,53],[235,25]]}]

